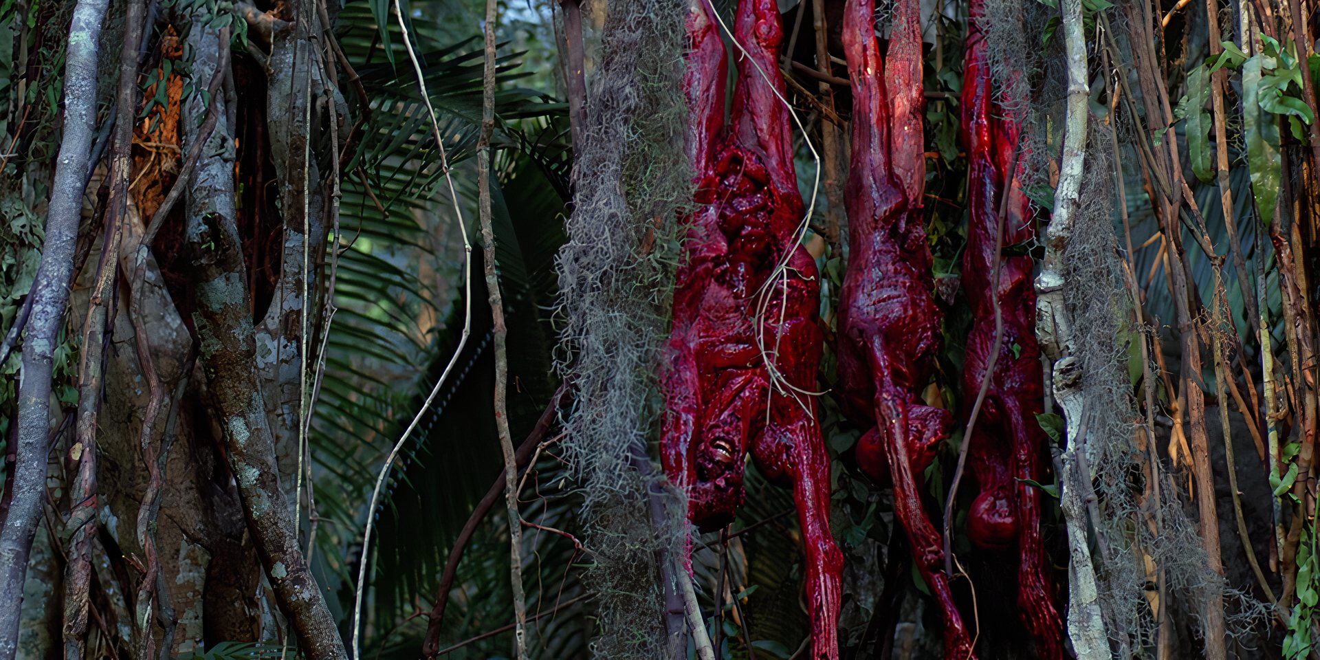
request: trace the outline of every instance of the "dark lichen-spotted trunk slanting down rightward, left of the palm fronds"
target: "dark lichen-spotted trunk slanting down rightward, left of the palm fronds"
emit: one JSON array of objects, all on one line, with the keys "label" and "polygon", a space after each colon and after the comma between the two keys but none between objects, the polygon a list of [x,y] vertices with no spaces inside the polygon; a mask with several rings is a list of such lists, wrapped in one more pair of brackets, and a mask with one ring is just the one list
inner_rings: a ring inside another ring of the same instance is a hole
[{"label": "dark lichen-spotted trunk slanting down rightward, left of the palm fronds", "polygon": [[[203,17],[194,17],[189,34],[197,57],[193,73],[199,79],[210,78],[223,62],[222,49],[228,48],[227,36],[218,36],[205,24]],[[201,104],[199,98],[190,99],[185,116],[201,116]],[[190,140],[197,137],[193,124],[185,128]],[[310,659],[346,659],[335,622],[298,548],[289,502],[280,487],[235,224],[234,157],[232,128],[222,116],[203,148],[187,195],[185,235],[195,267],[198,364],[223,426],[248,527],[300,649]]]}]

